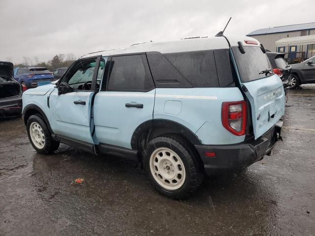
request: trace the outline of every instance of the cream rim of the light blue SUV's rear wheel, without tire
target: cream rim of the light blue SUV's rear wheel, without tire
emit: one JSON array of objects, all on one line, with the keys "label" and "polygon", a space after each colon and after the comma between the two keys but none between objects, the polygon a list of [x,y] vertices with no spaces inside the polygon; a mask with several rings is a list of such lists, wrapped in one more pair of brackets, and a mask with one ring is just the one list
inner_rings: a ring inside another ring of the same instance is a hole
[{"label": "cream rim of the light blue SUV's rear wheel, without tire", "polygon": [[179,189],[185,182],[182,159],[169,148],[157,148],[150,157],[150,170],[158,184],[167,190]]}]

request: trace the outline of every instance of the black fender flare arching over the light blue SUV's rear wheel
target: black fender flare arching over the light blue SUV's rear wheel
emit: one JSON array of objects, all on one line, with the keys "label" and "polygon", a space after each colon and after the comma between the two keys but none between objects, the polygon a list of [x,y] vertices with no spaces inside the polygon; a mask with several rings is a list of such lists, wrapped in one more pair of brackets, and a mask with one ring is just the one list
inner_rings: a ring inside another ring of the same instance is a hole
[{"label": "black fender flare arching over the light blue SUV's rear wheel", "polygon": [[138,141],[141,135],[150,129],[153,128],[167,128],[168,130],[172,130],[174,133],[181,134],[185,138],[189,140],[192,145],[202,145],[202,142],[197,137],[195,133],[193,133],[186,126],[169,119],[151,119],[141,123],[133,132],[131,137],[131,148],[134,150],[138,150]]}]

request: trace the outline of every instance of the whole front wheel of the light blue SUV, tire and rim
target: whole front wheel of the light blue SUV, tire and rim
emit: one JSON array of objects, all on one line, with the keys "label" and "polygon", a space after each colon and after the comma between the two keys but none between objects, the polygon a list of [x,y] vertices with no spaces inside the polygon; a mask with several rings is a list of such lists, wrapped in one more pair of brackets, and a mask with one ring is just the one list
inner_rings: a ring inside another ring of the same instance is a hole
[{"label": "whole front wheel of the light blue SUV, tire and rim", "polygon": [[52,139],[44,120],[32,115],[27,121],[27,132],[33,148],[41,154],[49,154],[59,148],[59,142]]}]

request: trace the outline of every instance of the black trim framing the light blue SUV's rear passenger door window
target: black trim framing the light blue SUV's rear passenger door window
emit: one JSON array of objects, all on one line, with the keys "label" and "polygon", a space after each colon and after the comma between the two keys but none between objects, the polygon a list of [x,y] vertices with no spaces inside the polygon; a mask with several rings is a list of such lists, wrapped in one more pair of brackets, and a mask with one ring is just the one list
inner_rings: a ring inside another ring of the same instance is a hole
[{"label": "black trim framing the light blue SUV's rear passenger door window", "polygon": [[[111,70],[112,70],[112,67],[111,67],[112,58],[114,58],[114,57],[124,57],[124,56],[135,56],[135,55],[141,55],[143,66],[144,66],[144,70],[145,70],[145,80],[147,80],[147,78],[149,77],[148,79],[151,80],[153,87],[149,88],[149,89],[137,89],[137,90],[135,90],[135,89],[130,89],[130,90],[127,90],[127,89],[124,89],[124,90],[116,90],[116,89],[115,90],[109,90],[108,89],[108,83],[109,83],[110,74],[111,74]],[[110,91],[110,92],[149,92],[149,91],[152,91],[153,89],[156,89],[154,80],[152,78],[151,70],[150,70],[150,67],[149,67],[148,59],[147,59],[147,56],[146,56],[145,52],[109,55],[108,58],[107,58],[107,62],[109,63],[109,65],[108,65],[109,68],[108,68],[108,71],[107,71],[107,74],[106,74],[106,87],[105,87],[105,89],[101,88],[100,91]],[[104,77],[105,76],[103,76],[102,80],[104,80]]]}]

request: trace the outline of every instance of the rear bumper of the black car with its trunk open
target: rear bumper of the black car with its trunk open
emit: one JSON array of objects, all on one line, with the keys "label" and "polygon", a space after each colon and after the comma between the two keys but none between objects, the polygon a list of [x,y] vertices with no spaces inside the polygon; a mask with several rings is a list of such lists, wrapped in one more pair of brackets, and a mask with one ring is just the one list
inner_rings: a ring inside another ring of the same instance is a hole
[{"label": "rear bumper of the black car with its trunk open", "polygon": [[0,101],[0,118],[21,117],[22,96]]}]

